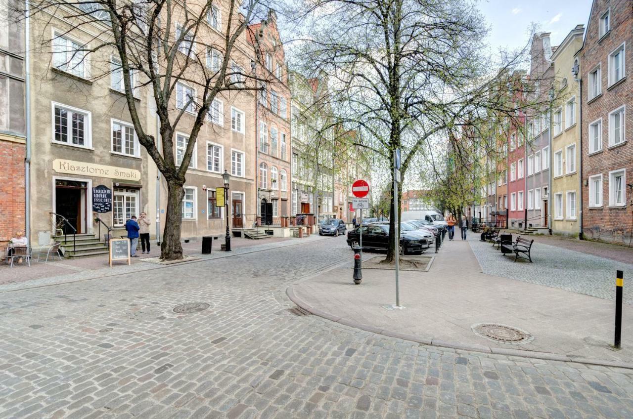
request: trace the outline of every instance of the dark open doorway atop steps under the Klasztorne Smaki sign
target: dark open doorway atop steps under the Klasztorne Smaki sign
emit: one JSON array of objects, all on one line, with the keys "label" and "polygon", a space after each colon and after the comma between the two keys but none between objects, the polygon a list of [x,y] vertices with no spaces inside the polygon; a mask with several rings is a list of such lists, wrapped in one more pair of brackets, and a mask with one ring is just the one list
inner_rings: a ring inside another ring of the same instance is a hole
[{"label": "dark open doorway atop steps under the Klasztorne Smaki sign", "polygon": [[[65,234],[85,233],[87,216],[87,191],[86,182],[76,180],[55,180],[55,213],[68,220],[68,224],[56,220],[56,228],[61,228]],[[75,230],[73,230],[75,228]]]}]

